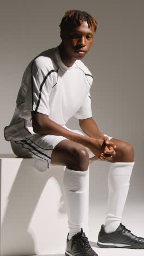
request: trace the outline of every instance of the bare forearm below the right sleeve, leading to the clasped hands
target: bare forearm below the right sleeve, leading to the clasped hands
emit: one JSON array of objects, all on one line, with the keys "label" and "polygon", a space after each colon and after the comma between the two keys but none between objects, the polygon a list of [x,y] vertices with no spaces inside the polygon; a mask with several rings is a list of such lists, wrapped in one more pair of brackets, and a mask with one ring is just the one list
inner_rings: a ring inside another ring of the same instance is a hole
[{"label": "bare forearm below the right sleeve, leading to the clasped hands", "polygon": [[93,120],[93,118],[81,119],[79,120],[80,127],[82,131],[87,133],[92,138],[100,138],[103,139],[104,135],[98,129],[97,124]]}]

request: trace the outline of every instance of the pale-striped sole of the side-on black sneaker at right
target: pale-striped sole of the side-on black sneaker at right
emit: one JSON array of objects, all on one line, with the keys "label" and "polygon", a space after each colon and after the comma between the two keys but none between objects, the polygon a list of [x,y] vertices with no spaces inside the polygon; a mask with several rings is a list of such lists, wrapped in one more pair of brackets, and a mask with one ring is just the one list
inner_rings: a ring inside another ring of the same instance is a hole
[{"label": "pale-striped sole of the side-on black sneaker at right", "polygon": [[121,243],[101,243],[101,242],[97,242],[97,245],[100,248],[125,248],[125,249],[144,249],[144,245],[141,245],[139,247],[137,247],[137,245],[124,245]]}]

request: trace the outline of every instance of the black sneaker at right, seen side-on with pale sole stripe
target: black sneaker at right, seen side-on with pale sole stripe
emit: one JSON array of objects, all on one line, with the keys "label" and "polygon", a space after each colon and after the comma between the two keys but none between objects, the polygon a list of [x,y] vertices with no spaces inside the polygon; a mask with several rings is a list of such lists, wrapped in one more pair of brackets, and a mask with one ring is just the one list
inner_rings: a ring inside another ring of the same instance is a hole
[{"label": "black sneaker at right, seen side-on with pale sole stripe", "polygon": [[106,233],[102,225],[97,245],[101,248],[144,249],[144,238],[132,234],[122,223],[111,233]]}]

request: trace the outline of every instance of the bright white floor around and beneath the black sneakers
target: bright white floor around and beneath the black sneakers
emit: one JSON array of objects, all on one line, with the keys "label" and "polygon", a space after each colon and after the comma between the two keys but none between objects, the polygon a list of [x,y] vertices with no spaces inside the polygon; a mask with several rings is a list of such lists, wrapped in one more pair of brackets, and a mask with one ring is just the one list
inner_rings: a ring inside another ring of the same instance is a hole
[{"label": "bright white floor around and beneath the black sneakers", "polygon": [[[123,249],[112,248],[105,249],[97,246],[98,232],[101,224],[103,224],[106,207],[104,206],[91,206],[89,211],[89,242],[92,248],[99,256],[144,256],[144,249]],[[133,211],[132,211],[133,210]],[[144,221],[143,221],[144,205],[139,203],[134,205],[126,205],[123,213],[123,225],[137,236],[144,237]],[[65,248],[64,248],[65,249]],[[29,255],[30,256],[30,255]],[[36,256],[36,255],[34,255]],[[39,256],[64,256],[64,253],[59,254],[45,254]]]}]

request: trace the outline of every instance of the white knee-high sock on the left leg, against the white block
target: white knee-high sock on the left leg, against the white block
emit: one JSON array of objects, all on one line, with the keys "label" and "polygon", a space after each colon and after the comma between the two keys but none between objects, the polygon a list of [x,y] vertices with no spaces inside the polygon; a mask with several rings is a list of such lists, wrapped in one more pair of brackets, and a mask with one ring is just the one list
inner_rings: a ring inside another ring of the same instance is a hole
[{"label": "white knee-high sock on the left leg, against the white block", "polygon": [[86,210],[88,181],[89,168],[83,172],[65,168],[63,188],[68,212],[69,240],[82,228]]}]

